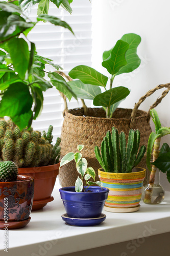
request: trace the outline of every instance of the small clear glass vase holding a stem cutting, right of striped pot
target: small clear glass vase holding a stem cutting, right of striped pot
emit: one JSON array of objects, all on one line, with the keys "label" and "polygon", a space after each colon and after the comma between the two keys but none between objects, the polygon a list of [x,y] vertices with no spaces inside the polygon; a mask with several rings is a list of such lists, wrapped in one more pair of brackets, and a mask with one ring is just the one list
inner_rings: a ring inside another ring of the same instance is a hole
[{"label": "small clear glass vase holding a stem cutting, right of striped pot", "polygon": [[[147,197],[149,195],[149,197]],[[160,170],[157,168],[154,184],[143,186],[142,201],[145,204],[160,204],[164,200],[165,191],[160,184]]]}]

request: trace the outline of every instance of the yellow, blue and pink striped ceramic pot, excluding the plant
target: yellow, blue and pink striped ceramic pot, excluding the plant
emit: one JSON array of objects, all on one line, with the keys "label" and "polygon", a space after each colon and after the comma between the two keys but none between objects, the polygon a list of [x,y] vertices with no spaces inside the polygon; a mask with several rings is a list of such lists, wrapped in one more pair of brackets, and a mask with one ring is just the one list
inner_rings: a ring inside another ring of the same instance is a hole
[{"label": "yellow, blue and pink striped ceramic pot, excluding the plant", "polygon": [[109,188],[105,210],[112,212],[132,212],[140,207],[145,169],[133,168],[132,173],[106,173],[98,170],[103,187]]}]

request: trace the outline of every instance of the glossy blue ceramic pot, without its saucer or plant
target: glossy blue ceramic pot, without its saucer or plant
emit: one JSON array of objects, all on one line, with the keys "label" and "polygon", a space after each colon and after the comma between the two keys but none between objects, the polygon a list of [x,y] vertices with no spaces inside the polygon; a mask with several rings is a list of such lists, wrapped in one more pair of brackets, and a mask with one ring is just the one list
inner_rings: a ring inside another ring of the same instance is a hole
[{"label": "glossy blue ceramic pot, without its saucer or plant", "polygon": [[69,218],[98,218],[101,216],[109,189],[106,187],[90,186],[91,193],[78,193],[75,187],[59,189],[61,199]]}]

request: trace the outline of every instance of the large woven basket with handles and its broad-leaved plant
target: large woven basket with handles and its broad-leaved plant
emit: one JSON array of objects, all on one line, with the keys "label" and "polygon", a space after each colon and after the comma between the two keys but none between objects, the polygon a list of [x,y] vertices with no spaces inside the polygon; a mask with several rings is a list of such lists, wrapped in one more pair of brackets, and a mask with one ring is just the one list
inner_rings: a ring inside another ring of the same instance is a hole
[{"label": "large woven basket with handles and its broad-leaved plant", "polygon": [[[117,108],[120,102],[129,95],[130,91],[123,86],[113,87],[114,78],[117,75],[132,72],[139,67],[140,58],[136,51],[140,41],[139,35],[133,33],[125,34],[111,50],[103,53],[102,66],[110,74],[110,80],[95,69],[84,65],[72,69],[68,73],[69,76],[59,72],[59,74],[65,76],[71,90],[78,98],[81,98],[83,103],[83,108],[68,110],[66,97],[63,97],[65,111],[61,133],[61,156],[64,156],[69,151],[75,151],[77,143],[86,144],[85,157],[89,165],[96,171],[96,180],[99,180],[98,168],[100,165],[95,159],[94,146],[101,144],[106,132],[108,130],[111,132],[113,126],[116,127],[119,133],[123,131],[126,134],[126,139],[131,128],[140,130],[140,145],[147,146],[151,134],[150,112],[147,113],[138,110],[138,108],[143,100],[156,90],[163,87],[170,89],[169,84],[161,84],[141,97],[139,102],[135,104],[134,110]],[[168,90],[156,101],[156,105],[160,103]],[[84,102],[85,99],[92,100],[93,104],[98,108],[87,108]],[[102,106],[102,108],[99,108],[99,106]],[[65,136],[66,134],[67,136]],[[143,157],[140,165],[141,167],[146,167],[145,157]],[[69,172],[70,169],[72,172]],[[62,186],[74,184],[76,180],[76,172],[74,170],[75,163],[70,162],[63,167],[62,172],[59,172],[59,180]]]}]

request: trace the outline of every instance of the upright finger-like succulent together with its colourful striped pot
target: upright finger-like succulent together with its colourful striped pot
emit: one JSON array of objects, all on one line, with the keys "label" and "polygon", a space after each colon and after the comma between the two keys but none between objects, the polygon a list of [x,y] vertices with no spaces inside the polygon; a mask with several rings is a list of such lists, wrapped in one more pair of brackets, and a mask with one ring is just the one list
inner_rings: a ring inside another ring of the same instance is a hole
[{"label": "upright finger-like succulent together with its colourful striped pot", "polygon": [[[125,133],[113,127],[112,134],[107,132],[101,144],[94,152],[102,168],[99,177],[104,187],[109,188],[105,210],[112,212],[132,212],[140,207],[145,169],[135,167],[145,153],[145,146],[139,149],[140,132],[130,130],[126,145]],[[139,151],[138,151],[139,149]],[[135,168],[134,168],[135,167]]]}]

